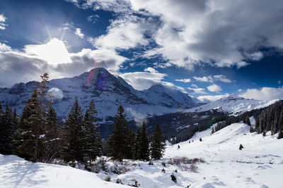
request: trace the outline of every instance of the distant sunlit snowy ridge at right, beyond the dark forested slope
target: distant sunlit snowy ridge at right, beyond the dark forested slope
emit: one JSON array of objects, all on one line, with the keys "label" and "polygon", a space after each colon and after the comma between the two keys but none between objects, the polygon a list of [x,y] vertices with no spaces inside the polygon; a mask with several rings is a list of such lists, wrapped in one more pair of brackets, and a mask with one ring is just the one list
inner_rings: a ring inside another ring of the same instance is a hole
[{"label": "distant sunlit snowy ridge at right, beyond the dark forested slope", "polygon": [[272,101],[259,101],[255,99],[244,99],[243,97],[232,94],[209,104],[204,104],[202,106],[187,109],[184,112],[202,112],[209,111],[211,109],[217,109],[217,111],[238,115],[256,108],[269,106],[270,104],[274,104],[278,100],[279,99]]}]

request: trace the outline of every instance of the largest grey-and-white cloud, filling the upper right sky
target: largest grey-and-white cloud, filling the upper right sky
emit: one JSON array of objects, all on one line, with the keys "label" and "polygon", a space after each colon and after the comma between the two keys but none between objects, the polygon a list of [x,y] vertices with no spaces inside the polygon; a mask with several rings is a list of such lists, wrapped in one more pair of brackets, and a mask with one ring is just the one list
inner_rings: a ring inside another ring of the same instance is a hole
[{"label": "largest grey-and-white cloud, filling the upper right sky", "polygon": [[154,36],[160,47],[148,55],[161,54],[172,65],[192,69],[202,61],[241,68],[248,65],[244,59],[263,57],[259,45],[283,49],[280,1],[130,1],[135,11],[161,16],[163,25]]}]

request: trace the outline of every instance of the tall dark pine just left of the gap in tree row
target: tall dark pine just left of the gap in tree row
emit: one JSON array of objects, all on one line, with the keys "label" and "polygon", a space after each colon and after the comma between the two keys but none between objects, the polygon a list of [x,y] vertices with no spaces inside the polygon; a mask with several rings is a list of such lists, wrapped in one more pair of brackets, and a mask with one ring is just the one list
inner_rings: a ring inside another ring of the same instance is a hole
[{"label": "tall dark pine just left of the gap in tree row", "polygon": [[[94,124],[93,124],[94,123]],[[83,119],[83,155],[84,161],[96,160],[97,156],[102,154],[102,139],[99,132],[99,123],[97,118],[97,111],[94,101],[86,110]]]}]

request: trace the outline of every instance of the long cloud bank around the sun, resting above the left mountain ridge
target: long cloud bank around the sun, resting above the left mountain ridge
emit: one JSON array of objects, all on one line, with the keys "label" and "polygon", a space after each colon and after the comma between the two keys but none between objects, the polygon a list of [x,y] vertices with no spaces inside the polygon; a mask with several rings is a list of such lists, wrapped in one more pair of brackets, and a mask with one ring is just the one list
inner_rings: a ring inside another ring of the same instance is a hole
[{"label": "long cloud bank around the sun, resting above the left mountain ridge", "polygon": [[51,39],[47,44],[26,45],[23,51],[16,51],[0,45],[0,87],[11,87],[17,82],[40,80],[42,73],[50,73],[50,78],[73,77],[91,68],[107,68],[110,73],[118,73],[120,65],[127,58],[109,49],[82,49],[69,53],[62,41]]}]

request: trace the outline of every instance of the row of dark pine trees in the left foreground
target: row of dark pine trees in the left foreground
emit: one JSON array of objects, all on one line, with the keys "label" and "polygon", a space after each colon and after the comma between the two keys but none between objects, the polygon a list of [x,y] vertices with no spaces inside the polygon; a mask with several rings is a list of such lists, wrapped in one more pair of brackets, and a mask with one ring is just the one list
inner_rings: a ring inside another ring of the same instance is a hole
[{"label": "row of dark pine trees in the left foreground", "polygon": [[114,160],[125,158],[160,159],[165,150],[165,139],[156,124],[149,137],[146,123],[137,132],[127,128],[124,108],[119,106],[114,118],[112,134],[103,142],[100,137],[98,111],[91,100],[83,114],[78,98],[62,126],[58,125],[52,96],[48,93],[48,74],[41,76],[38,88],[33,90],[19,117],[16,109],[4,109],[0,104],[0,153],[15,154],[33,162],[52,163],[54,159],[66,162],[91,163],[98,156]]}]

